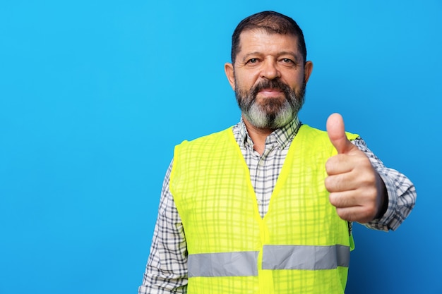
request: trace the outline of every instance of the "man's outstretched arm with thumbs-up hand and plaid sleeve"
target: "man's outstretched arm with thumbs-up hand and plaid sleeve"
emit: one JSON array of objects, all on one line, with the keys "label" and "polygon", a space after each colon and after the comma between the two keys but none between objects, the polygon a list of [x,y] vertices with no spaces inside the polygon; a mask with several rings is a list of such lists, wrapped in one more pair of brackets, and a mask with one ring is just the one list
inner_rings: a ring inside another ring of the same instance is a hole
[{"label": "man's outstretched arm with thumbs-up hand and plaid sleeve", "polygon": [[328,117],[327,133],[338,154],[325,163],[325,188],[340,218],[382,230],[398,228],[416,200],[410,180],[386,169],[368,148],[367,155],[352,144],[340,114]]}]

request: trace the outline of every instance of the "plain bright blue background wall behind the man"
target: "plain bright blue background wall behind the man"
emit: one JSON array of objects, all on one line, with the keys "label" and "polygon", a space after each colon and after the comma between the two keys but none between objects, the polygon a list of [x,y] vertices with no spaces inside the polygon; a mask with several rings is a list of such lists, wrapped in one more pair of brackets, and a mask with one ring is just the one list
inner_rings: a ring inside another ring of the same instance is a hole
[{"label": "plain bright blue background wall behind the man", "polygon": [[356,225],[347,293],[442,293],[442,3],[1,1],[0,293],[136,293],[174,145],[237,123],[230,37],[263,10],[304,30],[301,121],[340,112],[417,207]]}]

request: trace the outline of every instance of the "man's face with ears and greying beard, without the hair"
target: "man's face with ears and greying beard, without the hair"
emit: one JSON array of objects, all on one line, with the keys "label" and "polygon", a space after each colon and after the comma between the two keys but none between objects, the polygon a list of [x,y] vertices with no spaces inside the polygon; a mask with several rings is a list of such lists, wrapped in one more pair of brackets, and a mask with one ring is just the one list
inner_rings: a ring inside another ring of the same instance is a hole
[{"label": "man's face with ears and greying beard, without the hair", "polygon": [[241,32],[236,61],[225,70],[246,123],[274,130],[297,115],[312,68],[297,48],[292,35]]}]

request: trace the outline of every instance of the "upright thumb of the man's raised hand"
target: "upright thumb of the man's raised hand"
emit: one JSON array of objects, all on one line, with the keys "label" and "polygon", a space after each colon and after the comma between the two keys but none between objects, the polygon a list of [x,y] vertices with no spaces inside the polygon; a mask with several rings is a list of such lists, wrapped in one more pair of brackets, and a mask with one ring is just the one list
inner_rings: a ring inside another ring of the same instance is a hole
[{"label": "upright thumb of the man's raised hand", "polygon": [[344,120],[340,114],[331,114],[328,116],[327,133],[330,142],[335,146],[338,154],[350,152],[354,147],[345,135]]}]

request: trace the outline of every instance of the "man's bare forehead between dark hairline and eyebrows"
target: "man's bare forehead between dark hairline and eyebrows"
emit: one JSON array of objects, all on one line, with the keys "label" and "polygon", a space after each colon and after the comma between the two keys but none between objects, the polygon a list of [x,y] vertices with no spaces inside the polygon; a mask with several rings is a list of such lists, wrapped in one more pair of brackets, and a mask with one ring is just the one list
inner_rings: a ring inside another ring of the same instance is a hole
[{"label": "man's bare forehead between dark hairline and eyebrows", "polygon": [[295,54],[300,54],[297,36],[281,35],[265,30],[246,30],[239,35],[237,56],[251,52],[276,54],[280,51],[292,51]]}]

